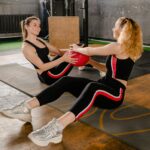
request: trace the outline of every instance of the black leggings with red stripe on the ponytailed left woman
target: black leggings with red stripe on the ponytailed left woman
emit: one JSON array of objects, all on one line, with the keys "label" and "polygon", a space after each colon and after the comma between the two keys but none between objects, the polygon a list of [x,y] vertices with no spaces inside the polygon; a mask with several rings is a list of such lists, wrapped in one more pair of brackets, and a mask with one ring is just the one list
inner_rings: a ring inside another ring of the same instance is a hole
[{"label": "black leggings with red stripe on the ponytailed left woman", "polygon": [[[56,60],[58,58],[60,58],[60,56],[55,57],[53,60]],[[56,82],[61,77],[68,75],[72,68],[72,64],[63,62],[54,68],[44,71],[41,75],[38,74],[38,78],[41,82],[50,85]]]}]

